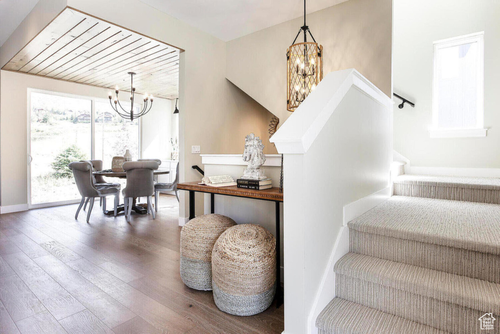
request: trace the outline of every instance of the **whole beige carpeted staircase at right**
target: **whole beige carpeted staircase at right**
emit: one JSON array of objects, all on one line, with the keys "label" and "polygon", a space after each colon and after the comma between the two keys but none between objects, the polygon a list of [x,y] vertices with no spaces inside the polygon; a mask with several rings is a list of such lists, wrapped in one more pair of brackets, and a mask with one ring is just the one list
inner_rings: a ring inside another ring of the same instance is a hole
[{"label": "whole beige carpeted staircase at right", "polygon": [[401,175],[394,193],[348,223],[319,333],[500,333],[500,180]]}]

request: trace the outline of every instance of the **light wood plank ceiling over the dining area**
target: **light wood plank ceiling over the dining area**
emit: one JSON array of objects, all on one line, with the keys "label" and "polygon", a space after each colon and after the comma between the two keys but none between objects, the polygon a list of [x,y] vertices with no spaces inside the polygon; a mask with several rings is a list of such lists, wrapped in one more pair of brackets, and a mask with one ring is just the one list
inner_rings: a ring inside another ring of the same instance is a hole
[{"label": "light wood plank ceiling over the dining area", "polygon": [[[62,11],[2,70],[79,84],[178,97],[179,49],[108,22]],[[114,92],[113,92],[114,96]]]}]

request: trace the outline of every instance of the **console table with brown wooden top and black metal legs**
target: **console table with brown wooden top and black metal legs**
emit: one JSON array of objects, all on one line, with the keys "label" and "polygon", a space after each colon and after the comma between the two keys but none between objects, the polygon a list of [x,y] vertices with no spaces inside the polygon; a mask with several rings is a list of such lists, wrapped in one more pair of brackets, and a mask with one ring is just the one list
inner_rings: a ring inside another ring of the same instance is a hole
[{"label": "console table with brown wooden top and black metal legs", "polygon": [[271,201],[275,203],[275,224],[276,224],[276,307],[283,303],[281,296],[281,269],[280,269],[280,231],[279,231],[279,203],[283,202],[283,193],[279,188],[272,187],[264,190],[251,190],[230,187],[212,187],[198,184],[197,182],[178,183],[177,189],[189,192],[189,219],[194,218],[194,193],[204,192],[210,194],[210,213],[215,213],[215,194],[224,196],[234,196],[243,198],[260,199],[262,201]]}]

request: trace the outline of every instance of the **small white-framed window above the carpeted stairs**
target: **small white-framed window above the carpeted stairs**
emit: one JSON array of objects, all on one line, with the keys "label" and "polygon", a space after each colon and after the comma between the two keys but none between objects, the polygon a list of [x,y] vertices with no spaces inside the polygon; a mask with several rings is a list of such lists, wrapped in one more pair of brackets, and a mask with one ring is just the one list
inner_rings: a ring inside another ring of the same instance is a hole
[{"label": "small white-framed window above the carpeted stairs", "polygon": [[481,32],[434,42],[432,137],[442,137],[435,135],[439,132],[445,137],[486,134],[483,37]]}]

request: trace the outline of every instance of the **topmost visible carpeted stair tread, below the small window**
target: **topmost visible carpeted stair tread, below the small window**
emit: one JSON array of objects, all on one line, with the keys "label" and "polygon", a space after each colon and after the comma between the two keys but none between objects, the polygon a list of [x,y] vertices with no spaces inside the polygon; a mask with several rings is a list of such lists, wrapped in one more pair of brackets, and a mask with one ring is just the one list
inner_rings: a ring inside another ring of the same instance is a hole
[{"label": "topmost visible carpeted stair tread, below the small window", "polygon": [[395,177],[394,183],[500,190],[500,178],[497,177],[403,174]]}]

